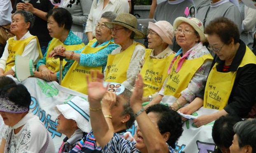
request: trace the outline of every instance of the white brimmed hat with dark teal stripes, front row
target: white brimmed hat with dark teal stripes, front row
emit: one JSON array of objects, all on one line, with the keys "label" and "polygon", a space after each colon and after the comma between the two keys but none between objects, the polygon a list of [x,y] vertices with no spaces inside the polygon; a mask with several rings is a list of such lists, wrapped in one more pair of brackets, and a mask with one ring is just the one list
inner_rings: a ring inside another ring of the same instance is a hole
[{"label": "white brimmed hat with dark teal stripes, front row", "polygon": [[66,104],[56,105],[54,110],[65,118],[76,121],[82,131],[91,131],[89,103],[83,98],[76,96]]}]

